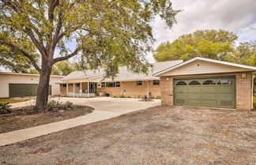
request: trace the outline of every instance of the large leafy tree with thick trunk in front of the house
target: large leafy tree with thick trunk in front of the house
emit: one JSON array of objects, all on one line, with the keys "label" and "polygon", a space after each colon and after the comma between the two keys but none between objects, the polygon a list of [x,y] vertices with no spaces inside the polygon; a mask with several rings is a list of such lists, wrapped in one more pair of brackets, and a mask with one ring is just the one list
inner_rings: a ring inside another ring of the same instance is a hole
[{"label": "large leafy tree with thick trunk in front of the house", "polygon": [[43,110],[56,62],[80,55],[107,75],[119,64],[146,72],[154,40],[149,22],[159,15],[171,27],[178,12],[169,0],[0,0],[0,43],[40,73],[36,110]]}]

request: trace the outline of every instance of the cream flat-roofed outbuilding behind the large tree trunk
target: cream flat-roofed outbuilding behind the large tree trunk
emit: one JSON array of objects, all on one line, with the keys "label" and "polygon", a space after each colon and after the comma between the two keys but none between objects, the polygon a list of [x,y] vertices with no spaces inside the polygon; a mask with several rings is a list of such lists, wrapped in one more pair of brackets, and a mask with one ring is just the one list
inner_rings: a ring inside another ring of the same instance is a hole
[{"label": "cream flat-roofed outbuilding behind the large tree trunk", "polygon": [[[59,95],[63,76],[51,75],[49,95]],[[39,74],[0,72],[0,98],[36,96]]]}]

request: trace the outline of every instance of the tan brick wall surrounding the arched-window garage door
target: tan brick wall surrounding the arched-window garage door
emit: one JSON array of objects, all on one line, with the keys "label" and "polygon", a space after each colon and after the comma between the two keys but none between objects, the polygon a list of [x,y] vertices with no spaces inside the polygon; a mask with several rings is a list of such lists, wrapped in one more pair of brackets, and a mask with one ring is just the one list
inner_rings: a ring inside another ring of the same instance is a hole
[{"label": "tan brick wall surrounding the arched-window garage door", "polygon": [[242,73],[221,73],[202,74],[179,77],[161,77],[161,103],[162,105],[173,106],[174,92],[173,80],[180,77],[215,77],[215,76],[235,76],[235,98],[236,109],[251,110],[252,107],[252,73],[246,73],[247,77],[242,77]]}]

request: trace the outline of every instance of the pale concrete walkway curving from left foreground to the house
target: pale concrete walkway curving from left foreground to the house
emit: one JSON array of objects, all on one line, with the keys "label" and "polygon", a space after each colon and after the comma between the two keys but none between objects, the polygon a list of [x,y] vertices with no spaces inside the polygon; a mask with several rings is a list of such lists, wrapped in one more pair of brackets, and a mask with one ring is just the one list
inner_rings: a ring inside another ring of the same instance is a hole
[{"label": "pale concrete walkway curving from left foreground to the house", "polygon": [[[13,144],[19,141],[25,141],[33,137],[40,137],[49,133],[55,133],[63,129],[69,129],[75,126],[81,126],[92,122],[99,122],[109,118],[115,118],[119,115],[132,111],[138,111],[148,107],[160,105],[160,100],[156,99],[152,102],[141,102],[138,99],[120,99],[120,98],[55,98],[65,102],[67,100],[78,105],[87,105],[94,107],[95,111],[90,114],[71,118],[60,122],[52,122],[42,126],[35,126],[28,129],[20,129],[17,131],[0,134],[0,145]],[[24,103],[13,103],[13,107],[32,105],[32,101]]]}]

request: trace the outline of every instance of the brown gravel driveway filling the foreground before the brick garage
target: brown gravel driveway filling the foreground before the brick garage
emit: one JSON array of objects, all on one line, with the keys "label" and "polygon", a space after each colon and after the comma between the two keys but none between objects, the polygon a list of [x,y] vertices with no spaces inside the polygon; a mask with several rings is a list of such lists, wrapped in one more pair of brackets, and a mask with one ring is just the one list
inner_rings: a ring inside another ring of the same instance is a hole
[{"label": "brown gravel driveway filling the foreground before the brick garage", "polygon": [[151,107],[0,151],[3,164],[256,164],[256,111]]}]

